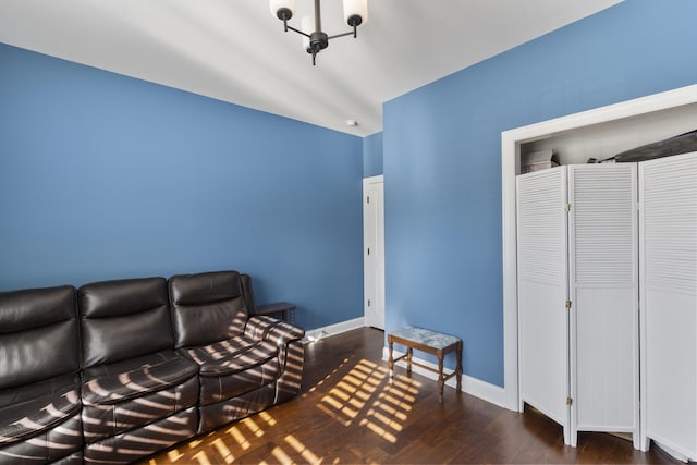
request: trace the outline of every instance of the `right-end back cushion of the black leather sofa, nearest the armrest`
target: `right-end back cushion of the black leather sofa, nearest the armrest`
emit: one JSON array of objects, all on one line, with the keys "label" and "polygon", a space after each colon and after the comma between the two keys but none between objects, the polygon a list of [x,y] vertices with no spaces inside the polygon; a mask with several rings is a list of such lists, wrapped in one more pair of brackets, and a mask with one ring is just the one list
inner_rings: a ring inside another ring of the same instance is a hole
[{"label": "right-end back cushion of the black leather sofa, nearest the armrest", "polygon": [[248,311],[236,271],[170,278],[175,346],[192,347],[244,332]]}]

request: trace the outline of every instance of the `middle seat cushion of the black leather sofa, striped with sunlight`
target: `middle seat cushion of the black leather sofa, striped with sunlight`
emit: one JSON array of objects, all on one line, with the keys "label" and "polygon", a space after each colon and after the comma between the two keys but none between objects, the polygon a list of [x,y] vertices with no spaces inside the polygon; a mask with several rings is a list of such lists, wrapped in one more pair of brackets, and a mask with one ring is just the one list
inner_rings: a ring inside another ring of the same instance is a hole
[{"label": "middle seat cushion of the black leather sofa, striped with sunlight", "polygon": [[83,403],[105,405],[142,397],[181,384],[198,374],[198,366],[174,351],[86,368]]}]

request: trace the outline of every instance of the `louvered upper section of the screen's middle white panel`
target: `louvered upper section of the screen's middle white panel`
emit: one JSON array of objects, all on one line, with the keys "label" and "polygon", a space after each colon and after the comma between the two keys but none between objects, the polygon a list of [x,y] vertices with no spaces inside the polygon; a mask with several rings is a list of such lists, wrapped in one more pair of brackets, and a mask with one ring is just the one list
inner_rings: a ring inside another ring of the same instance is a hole
[{"label": "louvered upper section of the screen's middle white panel", "polygon": [[634,285],[636,166],[570,168],[576,285]]}]

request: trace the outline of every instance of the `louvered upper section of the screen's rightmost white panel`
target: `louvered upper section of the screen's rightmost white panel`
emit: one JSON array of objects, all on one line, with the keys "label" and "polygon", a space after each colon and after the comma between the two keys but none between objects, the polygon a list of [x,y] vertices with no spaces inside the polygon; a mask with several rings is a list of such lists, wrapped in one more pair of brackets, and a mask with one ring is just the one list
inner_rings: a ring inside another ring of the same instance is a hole
[{"label": "louvered upper section of the screen's rightmost white panel", "polygon": [[644,284],[697,294],[697,154],[643,170]]}]

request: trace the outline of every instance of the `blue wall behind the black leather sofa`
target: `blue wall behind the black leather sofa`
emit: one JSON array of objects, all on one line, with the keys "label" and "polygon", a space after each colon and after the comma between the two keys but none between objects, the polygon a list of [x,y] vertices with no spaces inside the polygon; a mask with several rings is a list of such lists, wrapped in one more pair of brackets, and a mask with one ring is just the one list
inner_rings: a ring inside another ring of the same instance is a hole
[{"label": "blue wall behind the black leather sofa", "polygon": [[0,290],[235,269],[363,316],[362,139],[0,45]]}]

